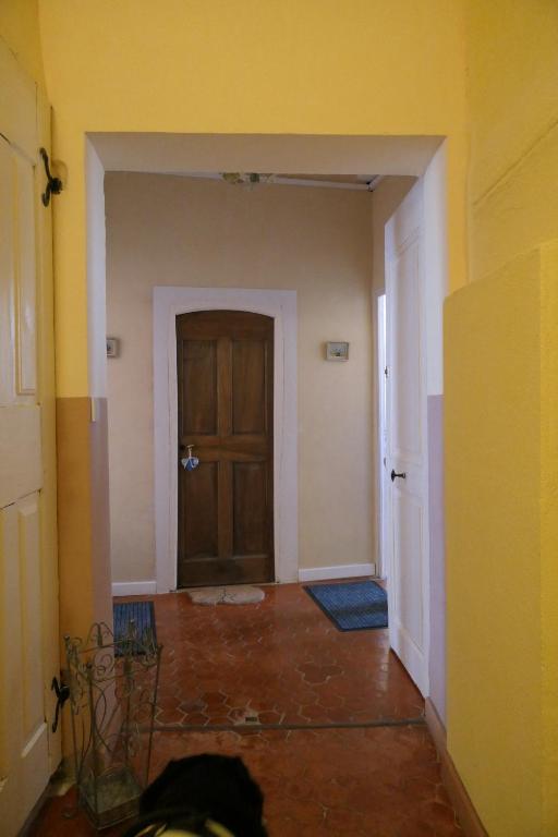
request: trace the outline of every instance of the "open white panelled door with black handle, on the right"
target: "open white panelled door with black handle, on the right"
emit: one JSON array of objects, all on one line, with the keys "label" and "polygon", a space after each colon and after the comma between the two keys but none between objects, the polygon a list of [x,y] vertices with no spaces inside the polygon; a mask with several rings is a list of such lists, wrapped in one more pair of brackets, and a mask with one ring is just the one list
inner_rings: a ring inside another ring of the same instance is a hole
[{"label": "open white panelled door with black handle, on the right", "polygon": [[388,571],[392,650],[428,694],[426,332],[418,181],[386,225]]}]

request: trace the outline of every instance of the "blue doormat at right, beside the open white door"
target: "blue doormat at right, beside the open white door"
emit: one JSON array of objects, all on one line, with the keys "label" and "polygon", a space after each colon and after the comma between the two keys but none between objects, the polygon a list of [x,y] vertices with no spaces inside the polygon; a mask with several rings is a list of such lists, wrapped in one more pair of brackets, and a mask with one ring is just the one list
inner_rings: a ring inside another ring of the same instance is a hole
[{"label": "blue doormat at right, beside the open white door", "polygon": [[388,627],[388,597],[374,581],[311,584],[304,590],[340,631]]}]

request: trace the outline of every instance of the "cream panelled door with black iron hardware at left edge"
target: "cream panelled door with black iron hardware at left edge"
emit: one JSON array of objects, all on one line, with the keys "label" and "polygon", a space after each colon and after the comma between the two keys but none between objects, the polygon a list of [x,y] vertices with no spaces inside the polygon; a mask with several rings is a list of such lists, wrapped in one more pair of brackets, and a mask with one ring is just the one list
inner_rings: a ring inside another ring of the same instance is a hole
[{"label": "cream panelled door with black iron hardware at left edge", "polygon": [[[47,109],[0,43],[0,832],[21,829],[60,761]],[[46,143],[45,143],[46,144]]]}]

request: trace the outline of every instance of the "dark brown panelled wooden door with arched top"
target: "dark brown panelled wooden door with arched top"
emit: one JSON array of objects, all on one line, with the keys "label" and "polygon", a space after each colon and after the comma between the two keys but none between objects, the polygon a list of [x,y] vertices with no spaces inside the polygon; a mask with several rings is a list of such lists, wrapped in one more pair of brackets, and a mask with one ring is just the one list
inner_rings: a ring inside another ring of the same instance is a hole
[{"label": "dark brown panelled wooden door with arched top", "polygon": [[177,355],[178,586],[274,581],[274,320],[182,314]]}]

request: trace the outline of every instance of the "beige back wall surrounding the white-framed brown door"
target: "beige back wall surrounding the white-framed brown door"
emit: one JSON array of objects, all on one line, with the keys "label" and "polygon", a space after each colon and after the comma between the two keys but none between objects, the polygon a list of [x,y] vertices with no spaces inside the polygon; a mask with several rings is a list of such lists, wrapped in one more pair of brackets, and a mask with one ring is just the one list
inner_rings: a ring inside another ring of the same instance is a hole
[{"label": "beige back wall surrounding the white-framed brown door", "polygon": [[371,195],[145,174],[108,174],[106,195],[113,581],[155,578],[156,284],[298,291],[300,565],[374,561]]}]

